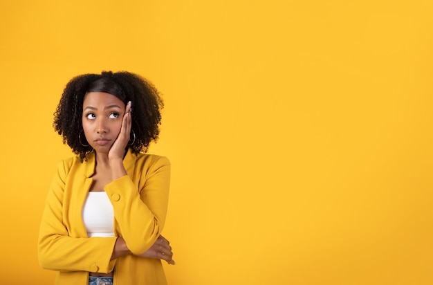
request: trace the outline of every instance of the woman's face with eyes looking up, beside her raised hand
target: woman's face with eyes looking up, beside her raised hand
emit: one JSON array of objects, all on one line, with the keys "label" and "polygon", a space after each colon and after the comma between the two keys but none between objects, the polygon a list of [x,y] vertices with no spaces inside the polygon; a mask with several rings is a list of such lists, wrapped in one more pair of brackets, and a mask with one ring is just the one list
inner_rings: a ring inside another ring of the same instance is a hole
[{"label": "woman's face with eyes looking up, beside her raised hand", "polygon": [[125,104],[115,95],[89,92],[84,97],[82,124],[89,145],[108,154],[122,127]]}]

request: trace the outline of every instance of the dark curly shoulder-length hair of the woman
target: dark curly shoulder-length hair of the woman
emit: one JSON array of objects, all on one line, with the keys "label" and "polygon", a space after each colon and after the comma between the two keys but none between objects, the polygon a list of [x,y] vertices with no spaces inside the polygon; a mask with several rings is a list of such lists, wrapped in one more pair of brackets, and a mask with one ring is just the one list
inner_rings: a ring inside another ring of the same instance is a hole
[{"label": "dark curly shoulder-length hair of the woman", "polygon": [[132,102],[131,131],[136,135],[132,145],[133,154],[146,152],[149,144],[158,140],[163,100],[151,82],[140,75],[120,71],[103,71],[99,74],[84,74],[74,77],[63,91],[54,113],[53,127],[62,135],[75,154],[84,160],[93,149],[87,143],[82,126],[84,96],[88,92],[104,92],[115,95],[122,102]]}]

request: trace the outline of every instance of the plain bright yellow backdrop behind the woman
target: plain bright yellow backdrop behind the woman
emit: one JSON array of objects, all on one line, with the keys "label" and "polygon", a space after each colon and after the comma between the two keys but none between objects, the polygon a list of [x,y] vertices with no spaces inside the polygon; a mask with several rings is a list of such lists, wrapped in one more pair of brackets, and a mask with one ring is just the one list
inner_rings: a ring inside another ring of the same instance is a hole
[{"label": "plain bright yellow backdrop behind the woman", "polygon": [[[171,285],[432,284],[432,1],[2,1],[3,284],[37,232],[68,80],[165,98]],[[11,281],[19,277],[19,281]]]}]

